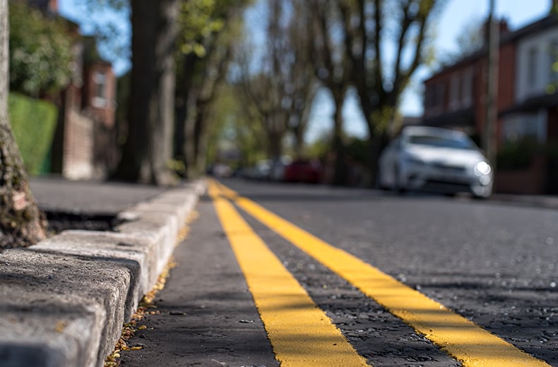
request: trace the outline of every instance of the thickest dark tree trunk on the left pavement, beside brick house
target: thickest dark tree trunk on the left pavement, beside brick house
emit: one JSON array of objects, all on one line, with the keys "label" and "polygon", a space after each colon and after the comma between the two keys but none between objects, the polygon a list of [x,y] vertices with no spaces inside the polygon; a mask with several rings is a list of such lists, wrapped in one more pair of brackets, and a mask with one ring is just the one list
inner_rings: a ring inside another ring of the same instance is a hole
[{"label": "thickest dark tree trunk on the left pavement, beside brick house", "polygon": [[165,185],[174,177],[174,49],[179,0],[132,0],[132,70],[129,134],[114,175]]}]

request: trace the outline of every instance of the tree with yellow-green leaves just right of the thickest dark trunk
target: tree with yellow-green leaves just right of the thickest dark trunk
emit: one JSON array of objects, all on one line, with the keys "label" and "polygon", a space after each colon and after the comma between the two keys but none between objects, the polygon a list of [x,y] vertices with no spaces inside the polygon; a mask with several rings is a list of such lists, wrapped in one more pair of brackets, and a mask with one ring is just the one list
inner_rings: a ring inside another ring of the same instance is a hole
[{"label": "tree with yellow-green leaves just right of the thickest dark trunk", "polygon": [[210,110],[225,83],[241,13],[249,0],[191,0],[182,4],[177,88],[177,154],[187,176],[206,166]]}]

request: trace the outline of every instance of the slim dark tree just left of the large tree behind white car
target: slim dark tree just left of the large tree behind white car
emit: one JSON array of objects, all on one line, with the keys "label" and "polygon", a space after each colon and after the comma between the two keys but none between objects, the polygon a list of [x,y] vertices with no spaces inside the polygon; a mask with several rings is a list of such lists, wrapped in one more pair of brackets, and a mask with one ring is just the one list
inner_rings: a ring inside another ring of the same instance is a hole
[{"label": "slim dark tree just left of the large tree behind white car", "polygon": [[345,184],[348,178],[343,144],[343,103],[350,87],[350,63],[338,42],[338,32],[342,22],[338,9],[332,0],[308,2],[307,12],[313,14],[311,35],[314,38],[314,69],[317,78],[331,92],[333,99],[333,152],[335,163],[333,183]]}]

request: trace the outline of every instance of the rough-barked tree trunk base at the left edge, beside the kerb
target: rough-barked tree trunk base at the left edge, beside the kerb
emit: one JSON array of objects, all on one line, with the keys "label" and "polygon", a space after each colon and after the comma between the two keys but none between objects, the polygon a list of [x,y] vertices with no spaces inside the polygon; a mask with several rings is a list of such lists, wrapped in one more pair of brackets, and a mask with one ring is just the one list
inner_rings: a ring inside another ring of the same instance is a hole
[{"label": "rough-barked tree trunk base at the left edge, beside the kerb", "polygon": [[32,197],[8,114],[8,0],[0,0],[0,248],[30,246],[46,221]]}]

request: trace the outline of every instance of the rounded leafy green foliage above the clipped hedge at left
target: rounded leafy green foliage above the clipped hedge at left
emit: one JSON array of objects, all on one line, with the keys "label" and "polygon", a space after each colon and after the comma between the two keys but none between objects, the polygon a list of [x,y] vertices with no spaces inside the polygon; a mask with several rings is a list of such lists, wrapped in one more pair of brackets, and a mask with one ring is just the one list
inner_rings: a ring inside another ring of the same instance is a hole
[{"label": "rounded leafy green foliage above the clipped hedge at left", "polygon": [[71,37],[61,18],[47,19],[25,1],[9,1],[10,90],[57,92],[71,77]]}]

